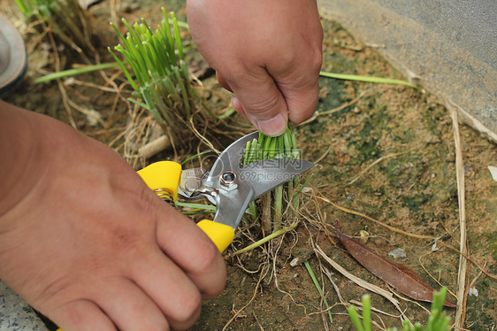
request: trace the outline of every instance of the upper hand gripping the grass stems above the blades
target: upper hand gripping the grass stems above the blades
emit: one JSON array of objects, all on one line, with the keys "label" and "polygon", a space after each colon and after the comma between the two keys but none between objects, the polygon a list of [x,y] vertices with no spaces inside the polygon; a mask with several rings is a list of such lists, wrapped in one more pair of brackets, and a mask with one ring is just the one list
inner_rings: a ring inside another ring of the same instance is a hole
[{"label": "upper hand gripping the grass stems above the blades", "polygon": [[323,41],[315,0],[188,0],[187,16],[233,106],[264,134],[314,113]]}]

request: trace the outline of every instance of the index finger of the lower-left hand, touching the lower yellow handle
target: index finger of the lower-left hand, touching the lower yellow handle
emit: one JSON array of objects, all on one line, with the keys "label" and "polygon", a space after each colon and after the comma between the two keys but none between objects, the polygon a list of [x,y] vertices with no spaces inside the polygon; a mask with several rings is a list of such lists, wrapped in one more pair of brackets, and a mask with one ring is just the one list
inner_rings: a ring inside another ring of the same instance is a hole
[{"label": "index finger of the lower-left hand, touching the lower yellow handle", "polygon": [[[226,264],[216,245],[193,221],[173,211],[175,222],[159,221],[157,242],[200,290],[203,299],[218,296],[226,284]],[[170,219],[172,216],[170,216]]]}]

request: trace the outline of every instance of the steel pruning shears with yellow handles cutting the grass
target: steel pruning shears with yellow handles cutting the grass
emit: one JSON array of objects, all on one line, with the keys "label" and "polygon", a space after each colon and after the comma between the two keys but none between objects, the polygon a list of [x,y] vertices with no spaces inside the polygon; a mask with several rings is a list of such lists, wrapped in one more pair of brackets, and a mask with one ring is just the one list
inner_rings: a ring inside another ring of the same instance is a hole
[{"label": "steel pruning shears with yellow handles cutting the grass", "polygon": [[175,202],[178,196],[187,200],[207,198],[214,204],[217,207],[214,219],[203,219],[197,225],[223,252],[233,242],[234,230],[251,201],[314,166],[312,162],[289,158],[271,158],[241,166],[247,142],[258,135],[258,131],[253,132],[229,145],[210,172],[203,168],[182,170],[176,162],[160,161],[138,174],[164,200]]}]

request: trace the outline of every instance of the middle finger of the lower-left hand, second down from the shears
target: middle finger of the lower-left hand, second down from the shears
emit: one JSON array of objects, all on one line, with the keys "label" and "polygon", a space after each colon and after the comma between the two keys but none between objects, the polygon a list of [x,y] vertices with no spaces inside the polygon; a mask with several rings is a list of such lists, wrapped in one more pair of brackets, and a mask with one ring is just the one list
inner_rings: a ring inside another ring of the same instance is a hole
[{"label": "middle finger of the lower-left hand, second down from the shears", "polygon": [[133,277],[164,313],[172,329],[191,327],[200,316],[199,290],[158,247],[150,251],[146,264],[135,270]]}]

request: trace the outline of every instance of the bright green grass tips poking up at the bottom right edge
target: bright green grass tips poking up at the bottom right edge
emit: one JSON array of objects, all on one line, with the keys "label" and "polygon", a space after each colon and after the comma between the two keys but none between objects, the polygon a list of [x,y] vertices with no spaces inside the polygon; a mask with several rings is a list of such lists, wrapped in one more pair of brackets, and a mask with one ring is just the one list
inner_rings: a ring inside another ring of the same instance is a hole
[{"label": "bright green grass tips poking up at the bottom right edge", "polygon": [[[414,325],[409,320],[404,320],[402,323],[401,331],[448,331],[450,329],[450,318],[443,312],[443,304],[447,289],[442,288],[439,292],[433,293],[432,311],[426,327],[417,322]],[[371,331],[371,297],[369,295],[363,296],[363,322],[359,319],[356,312],[356,307],[350,305],[348,307],[348,315],[354,322],[357,331]],[[397,331],[396,327],[387,328],[386,331]]]}]

